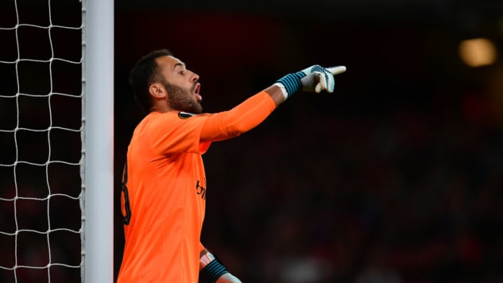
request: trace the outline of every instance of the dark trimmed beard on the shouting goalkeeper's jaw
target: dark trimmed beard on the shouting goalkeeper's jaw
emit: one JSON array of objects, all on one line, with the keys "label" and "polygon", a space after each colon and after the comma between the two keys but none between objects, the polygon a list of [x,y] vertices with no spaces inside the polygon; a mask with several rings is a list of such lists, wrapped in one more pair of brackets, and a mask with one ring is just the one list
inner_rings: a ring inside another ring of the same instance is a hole
[{"label": "dark trimmed beard on the shouting goalkeeper's jaw", "polygon": [[168,91],[167,100],[172,109],[194,114],[203,112],[201,103],[194,99],[194,89],[184,89],[168,82],[163,82],[163,85]]}]

